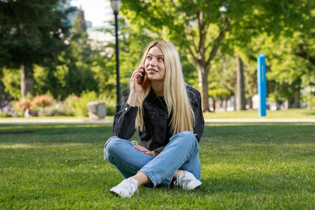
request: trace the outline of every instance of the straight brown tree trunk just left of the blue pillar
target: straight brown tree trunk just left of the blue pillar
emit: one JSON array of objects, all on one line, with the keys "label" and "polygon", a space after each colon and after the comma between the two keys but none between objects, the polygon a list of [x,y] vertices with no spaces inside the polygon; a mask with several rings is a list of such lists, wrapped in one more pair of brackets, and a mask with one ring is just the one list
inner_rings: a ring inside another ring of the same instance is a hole
[{"label": "straight brown tree trunk just left of the blue pillar", "polygon": [[244,67],[243,67],[243,61],[238,56],[235,55],[237,60],[237,106],[236,110],[246,110],[246,100],[245,100],[245,88],[244,88]]}]

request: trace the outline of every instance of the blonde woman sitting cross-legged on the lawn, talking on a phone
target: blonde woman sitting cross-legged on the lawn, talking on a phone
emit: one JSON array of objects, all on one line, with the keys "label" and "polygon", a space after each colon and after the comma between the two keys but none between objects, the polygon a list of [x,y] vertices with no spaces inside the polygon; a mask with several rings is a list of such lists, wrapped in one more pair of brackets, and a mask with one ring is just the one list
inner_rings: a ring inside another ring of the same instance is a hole
[{"label": "blonde woman sitting cross-legged on the lawn, talking on a phone", "polygon": [[[124,177],[111,193],[130,198],[141,185],[201,186],[199,141],[204,129],[200,93],[185,84],[178,51],[167,41],[145,48],[140,65],[122,92],[114,136],[104,158]],[[138,130],[140,144],[129,142]]]}]

